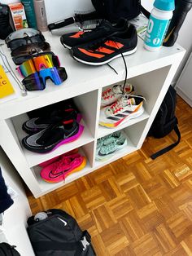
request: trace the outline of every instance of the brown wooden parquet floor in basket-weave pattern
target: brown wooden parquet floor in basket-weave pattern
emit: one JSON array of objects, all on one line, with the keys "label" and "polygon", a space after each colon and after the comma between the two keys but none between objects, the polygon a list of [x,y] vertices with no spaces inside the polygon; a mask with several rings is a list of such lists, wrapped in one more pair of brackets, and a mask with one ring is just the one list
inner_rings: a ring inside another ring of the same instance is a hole
[{"label": "brown wooden parquet floor in basket-weave pattern", "polygon": [[66,210],[99,256],[192,255],[192,108],[179,97],[177,117],[177,148],[153,161],[151,153],[176,136],[147,138],[142,150],[46,196],[28,192],[33,214]]}]

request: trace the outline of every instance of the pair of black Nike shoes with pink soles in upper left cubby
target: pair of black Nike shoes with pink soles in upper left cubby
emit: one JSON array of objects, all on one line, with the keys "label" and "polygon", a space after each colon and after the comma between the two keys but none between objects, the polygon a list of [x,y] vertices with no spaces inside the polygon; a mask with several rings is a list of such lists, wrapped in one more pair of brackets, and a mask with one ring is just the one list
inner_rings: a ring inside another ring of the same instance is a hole
[{"label": "pair of black Nike shoes with pink soles in upper left cubby", "polygon": [[74,108],[50,113],[50,117],[37,117],[24,122],[23,130],[29,135],[22,139],[24,148],[32,152],[50,152],[59,146],[78,139],[84,126],[79,124],[81,115]]}]

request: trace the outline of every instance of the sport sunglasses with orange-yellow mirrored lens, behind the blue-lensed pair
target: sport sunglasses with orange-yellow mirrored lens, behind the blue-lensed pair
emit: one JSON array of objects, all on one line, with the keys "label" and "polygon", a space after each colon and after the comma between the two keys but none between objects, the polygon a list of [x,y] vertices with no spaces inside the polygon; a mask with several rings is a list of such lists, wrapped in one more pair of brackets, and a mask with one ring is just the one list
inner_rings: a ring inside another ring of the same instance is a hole
[{"label": "sport sunglasses with orange-yellow mirrored lens, behind the blue-lensed pair", "polygon": [[57,55],[53,52],[45,53],[42,52],[38,54],[37,57],[33,57],[30,60],[26,60],[23,64],[21,64],[17,69],[23,77],[28,77],[32,73],[36,73],[41,71],[41,69],[45,68],[54,68],[59,67],[60,62]]}]

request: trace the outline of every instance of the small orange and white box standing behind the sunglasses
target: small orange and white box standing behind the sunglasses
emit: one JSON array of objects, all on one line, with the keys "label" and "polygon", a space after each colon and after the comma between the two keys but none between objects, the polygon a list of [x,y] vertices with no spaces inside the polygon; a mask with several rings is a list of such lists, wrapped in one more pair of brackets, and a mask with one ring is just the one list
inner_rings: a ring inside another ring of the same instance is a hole
[{"label": "small orange and white box standing behind the sunglasses", "polygon": [[28,28],[28,21],[24,12],[24,6],[21,2],[9,4],[13,24],[16,30]]}]

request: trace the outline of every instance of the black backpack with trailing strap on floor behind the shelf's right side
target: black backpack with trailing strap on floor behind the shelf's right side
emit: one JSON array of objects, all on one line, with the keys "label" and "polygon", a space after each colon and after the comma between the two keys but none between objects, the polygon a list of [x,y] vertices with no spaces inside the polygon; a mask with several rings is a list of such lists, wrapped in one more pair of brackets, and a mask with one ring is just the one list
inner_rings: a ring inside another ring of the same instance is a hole
[{"label": "black backpack with trailing strap on floor behind the shelf's right side", "polygon": [[168,135],[172,130],[175,130],[178,139],[176,143],[172,143],[167,148],[156,152],[151,156],[152,159],[163,155],[165,152],[168,152],[172,148],[176,147],[177,144],[181,140],[181,134],[178,129],[178,121],[177,117],[175,116],[175,109],[177,103],[177,92],[172,87],[169,86],[168,92],[164,97],[162,104],[160,105],[159,111],[153,121],[151,128],[149,130],[148,136],[154,136],[155,138],[163,138],[164,136]]}]

